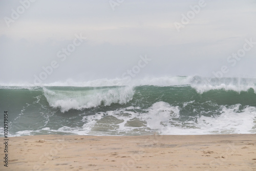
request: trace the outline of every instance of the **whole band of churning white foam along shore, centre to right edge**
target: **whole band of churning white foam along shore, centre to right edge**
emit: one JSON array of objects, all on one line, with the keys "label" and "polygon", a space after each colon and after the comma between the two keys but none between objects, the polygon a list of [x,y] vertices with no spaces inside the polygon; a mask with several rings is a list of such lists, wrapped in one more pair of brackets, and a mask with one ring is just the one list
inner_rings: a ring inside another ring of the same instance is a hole
[{"label": "whole band of churning white foam along shore, centre to right edge", "polygon": [[[107,130],[99,133],[99,123],[106,125],[117,125],[112,132],[117,135],[140,135],[148,132],[158,132],[162,135],[203,135],[203,134],[252,134],[256,133],[256,108],[246,106],[239,110],[240,104],[221,106],[220,115],[196,116],[194,120],[179,120],[180,109],[166,102],[154,103],[150,108],[142,112],[130,111],[139,108],[123,108],[116,111],[101,112],[95,115],[84,116],[83,129],[88,134],[110,135]],[[115,119],[110,120],[109,116]],[[131,126],[130,121],[137,120],[138,126]],[[118,122],[118,124],[114,123]],[[119,123],[120,122],[120,123]],[[136,130],[138,132],[136,132]],[[110,130],[109,130],[110,131]]]}]

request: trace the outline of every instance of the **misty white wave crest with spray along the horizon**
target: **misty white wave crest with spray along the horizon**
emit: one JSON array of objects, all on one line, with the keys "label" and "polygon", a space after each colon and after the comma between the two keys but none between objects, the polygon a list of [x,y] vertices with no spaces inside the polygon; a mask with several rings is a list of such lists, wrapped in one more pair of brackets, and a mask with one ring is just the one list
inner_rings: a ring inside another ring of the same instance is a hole
[{"label": "misty white wave crest with spray along the horizon", "polygon": [[[174,76],[174,77],[146,77],[143,79],[96,79],[85,82],[74,82],[67,80],[65,82],[53,82],[42,84],[41,87],[111,87],[111,86],[191,86],[196,89],[198,93],[204,93],[209,90],[232,90],[236,92],[248,91],[253,89],[256,93],[256,79],[255,78],[208,78],[200,76]],[[33,84],[23,83],[0,83],[2,88],[12,89],[37,89],[38,86]]]}]

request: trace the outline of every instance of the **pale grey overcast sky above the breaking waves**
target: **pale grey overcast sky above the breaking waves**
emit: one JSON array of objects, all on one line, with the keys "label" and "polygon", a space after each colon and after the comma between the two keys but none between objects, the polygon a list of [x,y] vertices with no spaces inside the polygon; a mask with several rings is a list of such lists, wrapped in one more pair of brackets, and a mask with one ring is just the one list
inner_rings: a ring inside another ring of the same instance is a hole
[{"label": "pale grey overcast sky above the breaking waves", "polygon": [[0,1],[0,83],[256,77],[256,1]]}]

